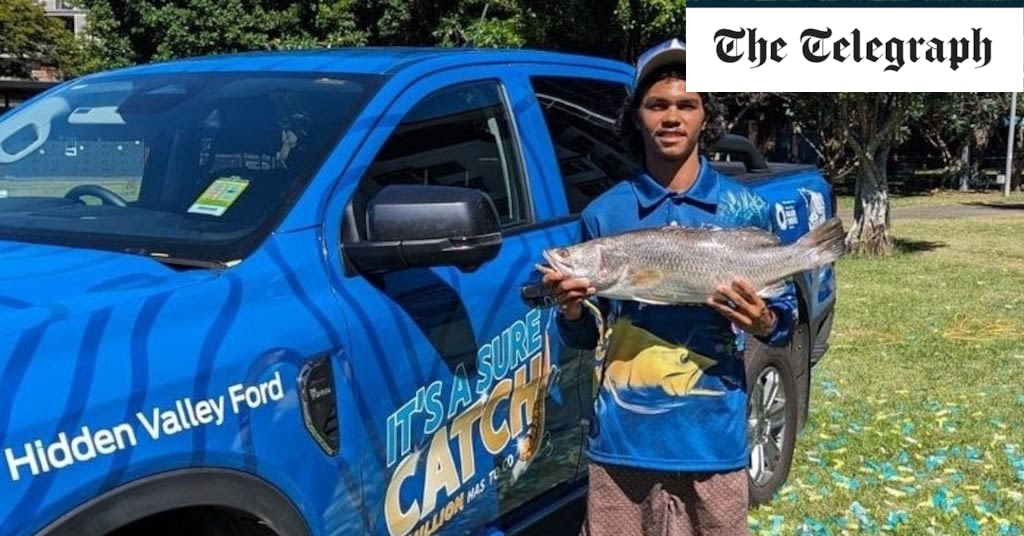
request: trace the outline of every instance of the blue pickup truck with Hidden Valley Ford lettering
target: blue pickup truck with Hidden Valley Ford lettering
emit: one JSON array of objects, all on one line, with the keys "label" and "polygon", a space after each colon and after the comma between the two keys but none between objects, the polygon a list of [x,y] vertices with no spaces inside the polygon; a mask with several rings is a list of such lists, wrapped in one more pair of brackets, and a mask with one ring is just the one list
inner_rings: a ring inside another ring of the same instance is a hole
[{"label": "blue pickup truck with Hidden Valley Ford lettering", "polygon": [[[592,356],[526,299],[635,167],[630,66],[524,50],[182,59],[0,118],[0,533],[515,534],[586,492]],[[784,242],[813,167],[726,137]],[[831,267],[755,346],[752,501],[786,478]],[[574,532],[569,528],[567,532]]]}]

